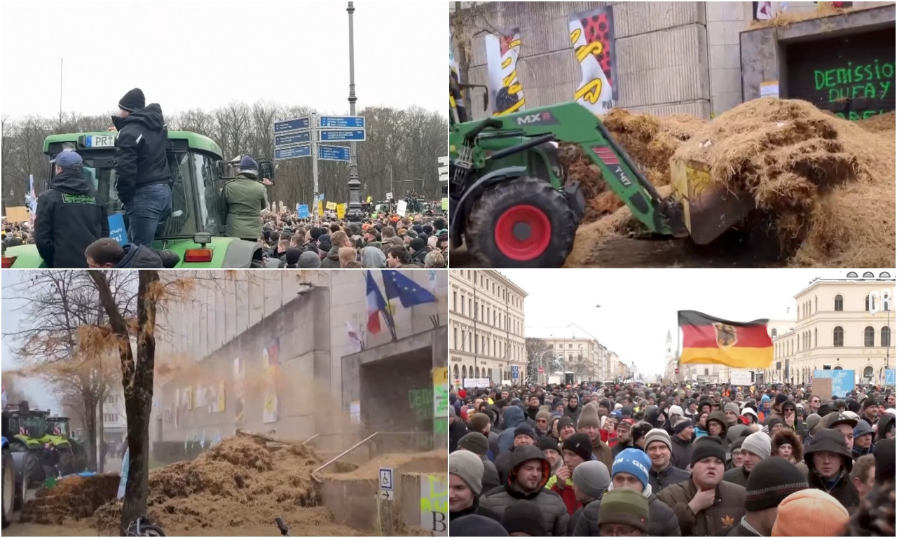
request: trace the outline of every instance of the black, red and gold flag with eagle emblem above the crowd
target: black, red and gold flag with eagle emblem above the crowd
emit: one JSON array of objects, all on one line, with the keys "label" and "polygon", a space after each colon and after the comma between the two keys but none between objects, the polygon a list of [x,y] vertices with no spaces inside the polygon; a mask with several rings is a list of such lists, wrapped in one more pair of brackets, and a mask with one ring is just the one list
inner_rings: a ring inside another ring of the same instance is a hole
[{"label": "black, red and gold flag with eagle emblem above the crowd", "polygon": [[721,364],[731,368],[763,369],[772,364],[769,319],[746,323],[679,310],[682,364]]}]

